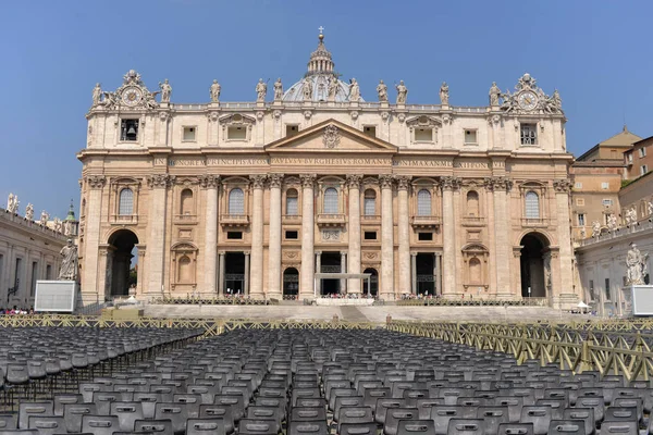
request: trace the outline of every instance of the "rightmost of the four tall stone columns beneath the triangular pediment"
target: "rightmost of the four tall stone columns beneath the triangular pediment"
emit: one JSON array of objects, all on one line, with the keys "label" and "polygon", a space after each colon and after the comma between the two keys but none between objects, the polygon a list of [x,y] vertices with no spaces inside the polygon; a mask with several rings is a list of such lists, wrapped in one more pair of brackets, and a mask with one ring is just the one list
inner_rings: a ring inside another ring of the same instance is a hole
[{"label": "rightmost of the four tall stone columns beneath the triangular pediment", "polygon": [[394,294],[394,219],[392,210],[392,175],[380,175],[381,183],[381,289],[385,300],[395,299]]}]

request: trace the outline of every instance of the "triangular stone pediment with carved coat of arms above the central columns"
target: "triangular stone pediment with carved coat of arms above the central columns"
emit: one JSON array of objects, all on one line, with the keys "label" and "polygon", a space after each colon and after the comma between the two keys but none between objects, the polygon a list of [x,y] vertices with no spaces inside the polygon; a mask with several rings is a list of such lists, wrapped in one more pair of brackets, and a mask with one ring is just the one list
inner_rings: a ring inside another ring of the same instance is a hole
[{"label": "triangular stone pediment with carved coat of arms above the central columns", "polygon": [[394,153],[397,147],[335,120],[328,120],[298,134],[268,144],[269,152],[383,152]]}]

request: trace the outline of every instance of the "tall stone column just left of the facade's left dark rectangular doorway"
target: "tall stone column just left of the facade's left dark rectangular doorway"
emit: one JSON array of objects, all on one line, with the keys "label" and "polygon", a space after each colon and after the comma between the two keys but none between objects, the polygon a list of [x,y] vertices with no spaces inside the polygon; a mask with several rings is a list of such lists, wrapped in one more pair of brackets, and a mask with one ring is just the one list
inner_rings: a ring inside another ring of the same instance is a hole
[{"label": "tall stone column just left of the facade's left dark rectangular doorway", "polygon": [[206,189],[207,207],[205,214],[205,288],[202,293],[215,294],[215,256],[218,249],[218,186],[220,177],[202,175],[200,186]]}]

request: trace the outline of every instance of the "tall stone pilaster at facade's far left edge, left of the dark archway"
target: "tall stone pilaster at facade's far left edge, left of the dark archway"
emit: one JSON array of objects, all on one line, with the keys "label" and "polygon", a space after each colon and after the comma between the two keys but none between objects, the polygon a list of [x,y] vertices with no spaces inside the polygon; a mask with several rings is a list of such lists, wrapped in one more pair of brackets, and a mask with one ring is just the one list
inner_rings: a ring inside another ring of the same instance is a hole
[{"label": "tall stone pilaster at facade's far left edge, left of the dark archway", "polygon": [[[82,300],[84,304],[103,302],[104,288],[98,286],[101,275],[106,274],[104,269],[99,266],[100,248],[100,220],[102,217],[102,188],[107,184],[103,175],[89,175],[84,181],[88,188],[88,198],[86,199],[86,239],[84,240],[84,264],[82,265],[84,281],[82,282]],[[9,259],[11,260],[11,256]],[[13,260],[12,260],[13,261]],[[57,262],[53,264],[52,276],[59,274]],[[13,283],[10,283],[13,287]]]}]

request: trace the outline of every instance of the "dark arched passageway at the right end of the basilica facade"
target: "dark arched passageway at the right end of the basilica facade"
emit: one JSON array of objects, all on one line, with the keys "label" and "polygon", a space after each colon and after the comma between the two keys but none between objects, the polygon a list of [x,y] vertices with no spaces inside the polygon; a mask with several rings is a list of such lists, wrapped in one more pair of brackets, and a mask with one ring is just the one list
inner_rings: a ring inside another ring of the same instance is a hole
[{"label": "dark arched passageway at the right end of the basilica facade", "polygon": [[[541,234],[529,233],[521,238],[521,296],[545,298],[551,290],[551,252],[549,240]],[[530,289],[530,291],[529,291]]]}]

